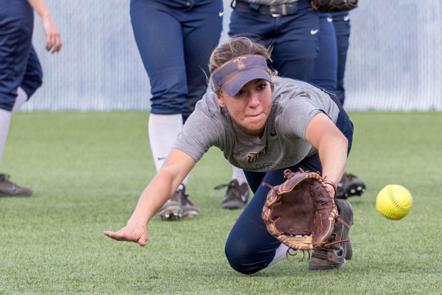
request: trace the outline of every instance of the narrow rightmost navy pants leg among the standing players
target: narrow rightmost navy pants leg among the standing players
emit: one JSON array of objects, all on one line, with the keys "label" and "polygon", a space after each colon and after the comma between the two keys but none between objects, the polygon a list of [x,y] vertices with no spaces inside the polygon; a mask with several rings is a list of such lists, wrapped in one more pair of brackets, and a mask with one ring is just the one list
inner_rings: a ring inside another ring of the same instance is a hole
[{"label": "narrow rightmost navy pants leg among the standing players", "polygon": [[336,95],[339,97],[339,101],[344,105],[345,101],[345,88],[344,88],[344,73],[345,63],[347,61],[347,50],[349,47],[350,38],[350,17],[348,11],[334,12],[331,14],[333,17],[333,26],[336,31],[336,43],[337,43],[337,89]]}]

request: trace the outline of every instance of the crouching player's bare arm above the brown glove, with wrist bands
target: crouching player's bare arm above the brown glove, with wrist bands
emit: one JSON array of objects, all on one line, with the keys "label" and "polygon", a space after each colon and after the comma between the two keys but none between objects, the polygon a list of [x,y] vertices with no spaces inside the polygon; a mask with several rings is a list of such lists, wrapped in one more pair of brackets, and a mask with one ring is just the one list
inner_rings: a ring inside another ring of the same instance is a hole
[{"label": "crouching player's bare arm above the brown glove, with wrist bands", "polygon": [[319,113],[307,125],[305,139],[318,150],[322,176],[339,183],[347,163],[347,138],[327,115]]}]

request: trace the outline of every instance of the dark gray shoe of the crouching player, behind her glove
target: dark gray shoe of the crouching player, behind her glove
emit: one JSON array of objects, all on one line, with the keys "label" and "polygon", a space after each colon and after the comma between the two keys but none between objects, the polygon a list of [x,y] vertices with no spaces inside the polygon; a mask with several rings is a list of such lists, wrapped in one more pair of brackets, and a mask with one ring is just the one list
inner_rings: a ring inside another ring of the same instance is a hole
[{"label": "dark gray shoe of the crouching player, behind her glove", "polygon": [[[335,199],[338,207],[339,217],[349,226],[353,224],[353,208],[346,200]],[[333,233],[327,243],[335,241],[347,240],[349,228],[341,222],[334,223]],[[310,270],[326,270],[342,266],[345,259],[351,259],[352,248],[350,241],[336,243],[331,248],[319,248],[313,252],[311,260],[308,264]],[[349,258],[348,258],[349,257]]]}]

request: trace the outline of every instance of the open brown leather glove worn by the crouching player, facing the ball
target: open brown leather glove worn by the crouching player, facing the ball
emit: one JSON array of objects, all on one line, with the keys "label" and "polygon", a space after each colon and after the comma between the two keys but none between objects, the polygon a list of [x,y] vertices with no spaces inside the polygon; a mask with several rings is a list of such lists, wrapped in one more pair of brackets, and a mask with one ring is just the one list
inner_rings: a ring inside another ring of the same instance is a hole
[{"label": "open brown leather glove worn by the crouching player, facing the ball", "polygon": [[[309,258],[310,250],[342,242],[327,244],[334,221],[341,219],[323,178],[315,172],[292,173],[289,169],[284,177],[287,180],[275,187],[263,183],[271,188],[262,211],[269,233],[290,249],[307,251]],[[305,253],[299,261],[304,257]]]}]

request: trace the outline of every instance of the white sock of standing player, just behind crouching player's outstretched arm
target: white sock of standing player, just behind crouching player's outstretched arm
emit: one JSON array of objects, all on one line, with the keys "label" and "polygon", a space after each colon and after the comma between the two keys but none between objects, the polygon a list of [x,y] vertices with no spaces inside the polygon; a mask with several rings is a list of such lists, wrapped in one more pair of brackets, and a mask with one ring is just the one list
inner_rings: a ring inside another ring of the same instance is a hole
[{"label": "white sock of standing player, just behind crouching player's outstretched arm", "polygon": [[163,166],[172,144],[183,128],[183,117],[176,115],[149,116],[149,142],[157,172]]}]

